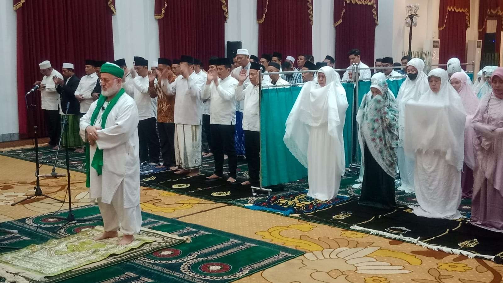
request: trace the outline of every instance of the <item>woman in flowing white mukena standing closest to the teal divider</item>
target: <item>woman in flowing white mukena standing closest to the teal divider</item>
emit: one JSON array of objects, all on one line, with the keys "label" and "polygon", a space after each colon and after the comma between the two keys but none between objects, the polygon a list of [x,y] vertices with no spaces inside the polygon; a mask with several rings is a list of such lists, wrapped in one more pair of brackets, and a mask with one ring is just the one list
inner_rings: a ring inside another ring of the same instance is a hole
[{"label": "woman in flowing white mukena standing closest to the teal divider", "polygon": [[307,82],[286,120],[283,140],[307,168],[308,196],[337,196],[346,169],[343,128],[348,100],[339,74],[329,66],[318,70],[318,84]]}]

